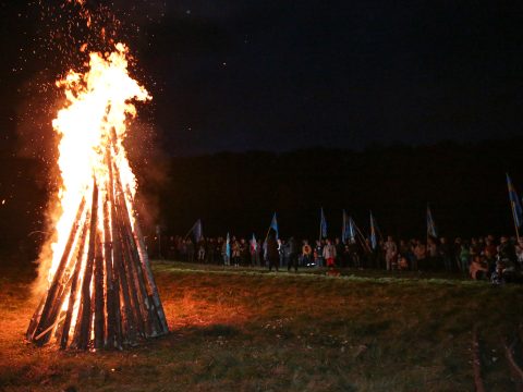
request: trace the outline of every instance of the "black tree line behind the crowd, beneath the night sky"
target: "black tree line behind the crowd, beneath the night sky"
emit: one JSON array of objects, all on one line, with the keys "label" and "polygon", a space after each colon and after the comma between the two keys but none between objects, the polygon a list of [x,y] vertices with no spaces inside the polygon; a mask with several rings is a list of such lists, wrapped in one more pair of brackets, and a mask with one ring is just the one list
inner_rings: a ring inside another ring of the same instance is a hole
[{"label": "black tree line behind the crowd, beneath the night sky", "polygon": [[332,236],[344,208],[362,229],[372,209],[384,233],[423,237],[429,201],[443,235],[511,233],[504,173],[523,191],[522,142],[173,158],[159,221],[173,233],[202,218],[204,234],[262,235],[277,211],[282,236],[313,238],[323,206]]}]

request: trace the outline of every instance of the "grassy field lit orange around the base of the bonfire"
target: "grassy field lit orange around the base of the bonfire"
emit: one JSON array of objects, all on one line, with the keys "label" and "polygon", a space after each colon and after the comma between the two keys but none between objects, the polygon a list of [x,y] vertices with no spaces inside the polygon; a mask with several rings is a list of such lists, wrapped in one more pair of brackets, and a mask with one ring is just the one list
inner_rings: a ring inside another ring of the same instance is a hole
[{"label": "grassy field lit orange around the base of the bonfire", "polygon": [[472,391],[473,324],[487,390],[518,387],[500,342],[523,324],[521,286],[377,271],[154,269],[171,333],[110,353],[24,342],[33,277],[7,271],[0,390]]}]

